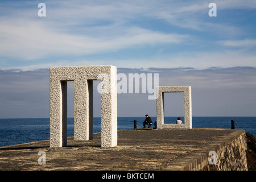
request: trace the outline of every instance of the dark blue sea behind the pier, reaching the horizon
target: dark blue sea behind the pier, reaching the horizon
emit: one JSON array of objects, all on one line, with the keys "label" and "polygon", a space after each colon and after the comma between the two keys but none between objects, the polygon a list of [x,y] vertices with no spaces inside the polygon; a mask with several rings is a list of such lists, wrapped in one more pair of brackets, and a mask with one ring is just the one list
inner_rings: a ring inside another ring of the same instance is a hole
[{"label": "dark blue sea behind the pier, reaching the horizon", "polygon": [[[133,129],[133,121],[137,120],[137,128],[143,127],[145,117],[118,117],[118,130]],[[156,121],[156,117],[151,117]],[[165,117],[164,123],[175,123],[177,117]],[[181,117],[184,122],[184,118]],[[235,121],[235,129],[243,129],[256,136],[256,117],[193,117],[192,127],[231,128],[231,120]],[[68,118],[68,137],[74,133],[74,119]],[[94,118],[93,132],[101,131],[101,118]],[[35,142],[49,139],[49,118],[0,119],[0,146]]]}]

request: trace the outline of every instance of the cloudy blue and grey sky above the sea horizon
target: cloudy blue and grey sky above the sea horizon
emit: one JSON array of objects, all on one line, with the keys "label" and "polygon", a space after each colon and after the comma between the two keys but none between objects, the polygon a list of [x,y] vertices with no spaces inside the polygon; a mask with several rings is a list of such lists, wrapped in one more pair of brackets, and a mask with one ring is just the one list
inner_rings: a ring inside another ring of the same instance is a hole
[{"label": "cloudy blue and grey sky above the sea horizon", "polygon": [[[49,117],[49,67],[88,65],[190,85],[193,116],[256,116],[255,19],[254,0],[0,1],[0,118]],[[167,116],[183,114],[180,94],[164,99]],[[145,114],[148,93],[118,94],[119,117]]]}]

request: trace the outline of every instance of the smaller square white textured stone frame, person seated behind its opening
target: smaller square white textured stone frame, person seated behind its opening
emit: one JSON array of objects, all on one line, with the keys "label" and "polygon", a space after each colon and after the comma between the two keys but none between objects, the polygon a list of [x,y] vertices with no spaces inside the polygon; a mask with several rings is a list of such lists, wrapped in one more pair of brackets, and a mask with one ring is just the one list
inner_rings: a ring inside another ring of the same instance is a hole
[{"label": "smaller square white textured stone frame, person seated behind its opening", "polygon": [[[191,86],[158,86],[156,88],[156,121],[158,129],[192,129]],[[184,92],[184,124],[164,124],[164,93]]]}]

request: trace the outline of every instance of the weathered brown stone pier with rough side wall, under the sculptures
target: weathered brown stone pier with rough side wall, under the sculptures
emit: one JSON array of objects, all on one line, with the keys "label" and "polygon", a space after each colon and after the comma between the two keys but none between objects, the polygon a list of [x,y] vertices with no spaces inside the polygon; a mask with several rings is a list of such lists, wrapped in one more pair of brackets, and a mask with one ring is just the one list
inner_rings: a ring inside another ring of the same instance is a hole
[{"label": "weathered brown stone pier with rough side wall, under the sculptures", "polygon": [[[118,130],[116,147],[101,147],[101,133],[86,141],[69,137],[61,148],[44,140],[0,147],[0,170],[246,170],[244,135],[230,129]],[[39,151],[46,152],[45,165],[38,164]],[[217,164],[209,165],[210,151]]]}]

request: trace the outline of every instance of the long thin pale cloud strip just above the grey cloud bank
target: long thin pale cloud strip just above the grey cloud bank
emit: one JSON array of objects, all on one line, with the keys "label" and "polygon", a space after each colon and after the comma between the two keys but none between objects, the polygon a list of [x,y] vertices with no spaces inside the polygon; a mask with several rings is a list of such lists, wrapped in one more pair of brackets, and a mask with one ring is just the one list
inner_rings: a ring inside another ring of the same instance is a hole
[{"label": "long thin pale cloud strip just above the grey cloud bank", "polygon": [[78,59],[59,60],[50,63],[14,66],[5,69],[18,68],[23,71],[49,67],[114,65],[117,68],[184,68],[206,69],[210,67],[255,67],[255,55],[242,51],[213,52],[182,52],[175,55],[155,56],[148,58],[128,59]]}]

